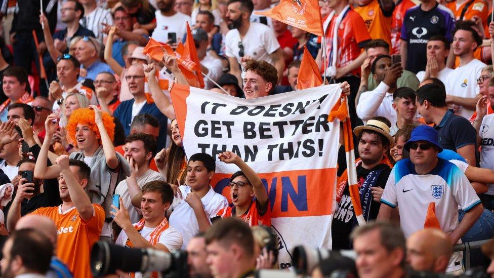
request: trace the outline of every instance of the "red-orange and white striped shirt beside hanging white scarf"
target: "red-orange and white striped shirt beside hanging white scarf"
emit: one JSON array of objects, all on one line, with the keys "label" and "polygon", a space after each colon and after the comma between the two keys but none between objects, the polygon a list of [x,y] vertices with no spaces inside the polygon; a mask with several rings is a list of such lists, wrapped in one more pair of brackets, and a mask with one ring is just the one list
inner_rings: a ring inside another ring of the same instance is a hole
[{"label": "red-orange and white striped shirt beside hanging white scarf", "polygon": [[[332,59],[331,49],[333,48],[333,31],[337,17],[338,15],[335,15],[329,24],[327,22],[328,18],[326,17],[323,23],[323,26],[327,26],[324,39],[326,43],[326,55],[328,57],[327,61],[329,64],[331,64]],[[365,46],[362,45],[362,43],[370,41],[372,38],[370,38],[362,17],[352,9],[347,12],[341,21],[340,26],[337,28],[338,50],[336,67],[341,68],[357,59],[360,53],[362,53],[362,48]],[[325,67],[327,66],[328,65],[326,64]],[[321,73],[323,72],[324,68],[321,69]],[[360,67],[357,67],[349,73],[360,76]]]}]

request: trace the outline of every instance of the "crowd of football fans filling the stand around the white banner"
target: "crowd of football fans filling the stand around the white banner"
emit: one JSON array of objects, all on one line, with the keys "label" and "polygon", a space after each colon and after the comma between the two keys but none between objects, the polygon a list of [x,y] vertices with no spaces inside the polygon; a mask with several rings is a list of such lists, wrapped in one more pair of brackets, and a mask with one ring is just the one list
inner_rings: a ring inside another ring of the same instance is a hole
[{"label": "crowd of football fans filling the stand around the white banner", "polygon": [[[494,238],[492,3],[321,0],[322,37],[255,14],[276,4],[3,0],[2,276],[91,277],[97,241],[184,250],[194,277],[280,268],[268,191],[237,153],[185,153],[169,88],[189,80],[175,56],[143,54],[150,38],[193,39],[203,89],[221,94],[297,90],[305,47],[340,84],[368,223],[341,146],[331,246],[353,259],[335,253],[309,274],[464,273],[453,246]],[[231,203],[211,186],[215,161],[238,167]],[[494,275],[494,241],[468,259]]]}]

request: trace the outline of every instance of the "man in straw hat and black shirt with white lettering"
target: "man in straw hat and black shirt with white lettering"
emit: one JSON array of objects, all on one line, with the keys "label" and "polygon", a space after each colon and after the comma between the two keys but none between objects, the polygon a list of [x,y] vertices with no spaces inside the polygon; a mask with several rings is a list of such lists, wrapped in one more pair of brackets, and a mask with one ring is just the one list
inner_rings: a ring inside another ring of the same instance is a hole
[{"label": "man in straw hat and black shirt with white lettering", "polygon": [[[357,136],[360,156],[356,164],[362,215],[365,221],[369,221],[376,219],[379,213],[379,200],[391,172],[386,153],[395,142],[389,135],[388,126],[378,120],[369,120],[367,125],[356,127],[353,132]],[[338,180],[336,200],[338,208],[331,227],[333,248],[351,249],[349,235],[357,225],[357,219],[350,198],[346,170]]]}]

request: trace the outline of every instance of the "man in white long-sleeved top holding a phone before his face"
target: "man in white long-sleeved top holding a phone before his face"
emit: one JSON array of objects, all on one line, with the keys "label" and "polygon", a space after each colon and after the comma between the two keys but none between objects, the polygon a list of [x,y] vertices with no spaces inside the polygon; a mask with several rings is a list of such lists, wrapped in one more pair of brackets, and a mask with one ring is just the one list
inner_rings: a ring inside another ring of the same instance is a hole
[{"label": "man in white long-sleeved top holding a phone before his face", "polygon": [[396,123],[396,111],[393,109],[393,93],[396,90],[396,81],[401,76],[403,68],[399,63],[392,64],[391,57],[379,55],[370,68],[376,83],[379,84],[373,91],[362,93],[357,99],[357,115],[362,121],[373,116],[383,116]]}]

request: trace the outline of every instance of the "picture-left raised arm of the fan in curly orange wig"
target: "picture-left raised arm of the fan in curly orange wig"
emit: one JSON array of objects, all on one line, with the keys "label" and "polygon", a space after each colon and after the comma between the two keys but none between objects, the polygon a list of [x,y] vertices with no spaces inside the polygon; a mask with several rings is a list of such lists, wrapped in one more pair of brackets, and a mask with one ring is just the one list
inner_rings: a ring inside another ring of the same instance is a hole
[{"label": "picture-left raised arm of the fan in curly orange wig", "polygon": [[34,177],[38,179],[55,179],[60,175],[60,167],[58,165],[47,166],[48,150],[50,149],[50,142],[58,127],[60,116],[53,113],[48,115],[45,121],[45,141],[39,151],[39,156],[34,166]]}]

